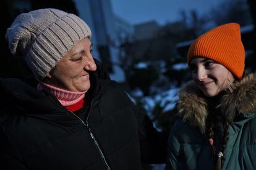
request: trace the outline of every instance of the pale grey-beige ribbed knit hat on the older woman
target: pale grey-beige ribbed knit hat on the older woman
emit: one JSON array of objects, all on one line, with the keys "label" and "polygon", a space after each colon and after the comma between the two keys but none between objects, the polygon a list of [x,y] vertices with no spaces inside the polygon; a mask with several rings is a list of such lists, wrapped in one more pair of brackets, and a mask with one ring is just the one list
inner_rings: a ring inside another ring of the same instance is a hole
[{"label": "pale grey-beige ribbed knit hat on the older woman", "polygon": [[58,9],[38,9],[18,15],[7,29],[9,49],[23,57],[37,78],[44,78],[80,40],[92,33],[74,14]]}]

